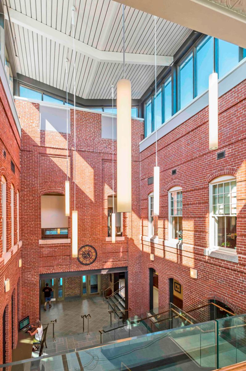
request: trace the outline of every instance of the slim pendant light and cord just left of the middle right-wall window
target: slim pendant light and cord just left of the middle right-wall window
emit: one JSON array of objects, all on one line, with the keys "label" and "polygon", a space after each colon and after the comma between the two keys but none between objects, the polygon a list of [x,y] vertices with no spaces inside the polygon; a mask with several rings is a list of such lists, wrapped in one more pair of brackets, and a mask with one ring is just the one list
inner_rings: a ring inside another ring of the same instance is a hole
[{"label": "slim pendant light and cord just left of the middle right-wall window", "polygon": [[156,109],[156,16],[154,16],[154,75],[155,75],[155,104],[154,104],[154,122],[156,129],[156,166],[154,167],[154,200],[153,200],[153,214],[159,215],[159,199],[160,199],[160,168],[157,166],[157,109]]}]

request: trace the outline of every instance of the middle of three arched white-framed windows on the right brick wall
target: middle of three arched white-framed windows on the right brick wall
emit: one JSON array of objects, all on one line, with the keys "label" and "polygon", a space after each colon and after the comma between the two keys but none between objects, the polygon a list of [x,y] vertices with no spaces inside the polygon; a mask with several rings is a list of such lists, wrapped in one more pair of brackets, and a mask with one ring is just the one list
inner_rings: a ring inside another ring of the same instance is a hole
[{"label": "middle of three arched white-framed windows on the right brick wall", "polygon": [[181,187],[172,187],[168,192],[169,198],[169,240],[183,239],[183,196]]}]

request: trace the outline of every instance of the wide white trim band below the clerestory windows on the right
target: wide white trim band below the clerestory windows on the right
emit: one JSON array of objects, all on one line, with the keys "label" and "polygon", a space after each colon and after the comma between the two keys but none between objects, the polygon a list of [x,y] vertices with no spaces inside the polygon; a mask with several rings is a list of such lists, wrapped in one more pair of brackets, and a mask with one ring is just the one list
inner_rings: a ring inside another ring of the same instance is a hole
[{"label": "wide white trim band below the clerestory windows on the right", "polygon": [[[219,79],[218,82],[218,96],[222,96],[236,85],[246,79],[246,58],[241,60],[235,68],[230,70],[225,76]],[[164,135],[168,134],[173,129],[177,128],[179,125],[183,124],[185,121],[190,119],[192,116],[196,115],[198,112],[202,111],[209,104],[208,90],[194,98],[189,104],[184,108],[176,112],[175,115],[170,117],[166,122],[164,122],[159,128],[153,131],[148,137],[144,138],[139,144],[139,151],[144,151],[147,147],[152,145]],[[208,143],[207,143],[208,145]]]}]

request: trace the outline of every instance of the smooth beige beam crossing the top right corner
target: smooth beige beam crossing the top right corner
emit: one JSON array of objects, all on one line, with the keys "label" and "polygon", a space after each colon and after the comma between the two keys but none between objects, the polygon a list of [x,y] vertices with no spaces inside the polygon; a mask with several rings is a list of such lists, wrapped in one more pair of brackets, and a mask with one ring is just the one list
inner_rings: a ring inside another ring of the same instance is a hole
[{"label": "smooth beige beam crossing the top right corner", "polygon": [[[122,0],[115,0],[122,3]],[[217,0],[215,0],[217,1]],[[222,1],[225,3],[225,1]],[[209,0],[124,0],[142,12],[246,48],[246,16]],[[239,1],[233,1],[236,5]],[[244,1],[241,1],[244,4]]]}]

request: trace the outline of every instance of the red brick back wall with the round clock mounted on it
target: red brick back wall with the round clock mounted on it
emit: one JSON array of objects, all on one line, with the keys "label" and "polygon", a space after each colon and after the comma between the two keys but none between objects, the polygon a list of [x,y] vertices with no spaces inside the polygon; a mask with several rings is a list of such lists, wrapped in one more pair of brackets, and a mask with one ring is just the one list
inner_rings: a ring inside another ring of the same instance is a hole
[{"label": "red brick back wall with the round clock mounted on it", "polygon": [[[129,307],[141,312],[141,293],[135,292],[140,282],[140,154],[143,122],[132,120],[132,208],[123,215],[124,241],[106,242],[107,197],[112,194],[112,140],[101,137],[101,115],[76,111],[76,209],[79,217],[79,247],[92,244],[97,260],[90,266],[80,265],[72,258],[72,246],[67,244],[39,245],[41,239],[40,196],[48,192],[64,193],[66,180],[66,135],[39,130],[39,104],[16,100],[22,126],[21,140],[21,233],[23,239],[23,269],[21,290],[22,316],[31,321],[39,317],[39,274],[84,269],[105,269],[128,266]],[[70,213],[74,209],[74,127],[71,110],[69,146]],[[116,190],[116,145],[114,145]],[[117,193],[117,191],[116,191]],[[69,238],[71,237],[71,214]],[[29,226],[28,228],[26,226]],[[128,236],[128,238],[127,238]],[[32,269],[30,269],[30,264]],[[30,283],[33,295],[30,297]]]}]

